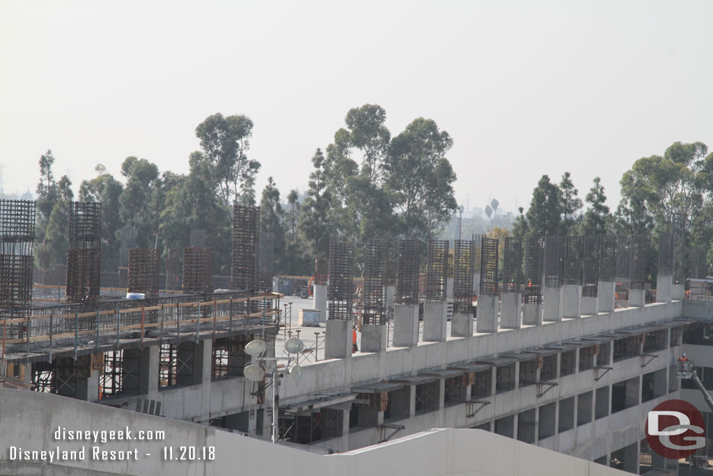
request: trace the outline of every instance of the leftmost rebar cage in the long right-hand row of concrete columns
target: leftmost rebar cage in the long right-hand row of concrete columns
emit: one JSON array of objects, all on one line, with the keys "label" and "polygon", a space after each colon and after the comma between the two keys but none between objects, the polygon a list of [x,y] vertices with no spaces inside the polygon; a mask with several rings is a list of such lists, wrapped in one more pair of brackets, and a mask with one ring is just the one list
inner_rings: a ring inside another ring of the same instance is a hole
[{"label": "leftmost rebar cage in the long right-hand row of concrete columns", "polygon": [[329,242],[329,319],[352,318],[354,294],[354,243]]}]

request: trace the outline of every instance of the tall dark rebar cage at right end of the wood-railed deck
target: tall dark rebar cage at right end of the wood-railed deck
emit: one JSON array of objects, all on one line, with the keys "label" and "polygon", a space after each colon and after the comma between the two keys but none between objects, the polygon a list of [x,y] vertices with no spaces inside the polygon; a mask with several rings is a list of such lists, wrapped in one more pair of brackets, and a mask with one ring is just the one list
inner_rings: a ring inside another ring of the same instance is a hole
[{"label": "tall dark rebar cage at right end of the wood-railed deck", "polygon": [[260,251],[260,207],[235,205],[232,217],[231,287],[255,292]]}]

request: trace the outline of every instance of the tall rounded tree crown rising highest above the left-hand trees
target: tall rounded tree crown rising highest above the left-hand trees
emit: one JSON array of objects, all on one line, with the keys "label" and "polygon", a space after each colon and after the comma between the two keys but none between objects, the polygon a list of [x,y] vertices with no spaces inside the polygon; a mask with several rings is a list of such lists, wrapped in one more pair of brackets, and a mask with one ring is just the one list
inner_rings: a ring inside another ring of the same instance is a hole
[{"label": "tall rounded tree crown rising highest above the left-hand trees", "polygon": [[215,113],[195,128],[203,149],[195,158],[207,163],[215,193],[226,205],[243,193],[246,181],[260,170],[260,162],[247,158],[252,120],[247,116]]}]

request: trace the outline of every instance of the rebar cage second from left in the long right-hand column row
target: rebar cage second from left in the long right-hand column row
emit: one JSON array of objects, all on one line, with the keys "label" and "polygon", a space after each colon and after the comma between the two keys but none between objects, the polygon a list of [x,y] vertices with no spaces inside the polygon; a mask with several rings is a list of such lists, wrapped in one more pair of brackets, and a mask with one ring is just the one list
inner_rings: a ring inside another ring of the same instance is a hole
[{"label": "rebar cage second from left in the long right-hand column row", "polygon": [[386,241],[364,241],[364,324],[386,323]]}]

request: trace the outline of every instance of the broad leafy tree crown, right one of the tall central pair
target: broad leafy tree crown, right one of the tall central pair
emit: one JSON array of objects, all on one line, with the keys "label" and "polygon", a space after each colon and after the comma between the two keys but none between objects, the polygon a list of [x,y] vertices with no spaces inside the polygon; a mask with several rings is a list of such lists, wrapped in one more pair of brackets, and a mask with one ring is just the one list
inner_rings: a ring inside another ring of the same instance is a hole
[{"label": "broad leafy tree crown, right one of the tall central pair", "polygon": [[428,238],[458,210],[456,173],[446,158],[452,146],[451,136],[424,118],[415,119],[391,141],[384,178],[404,236]]}]

